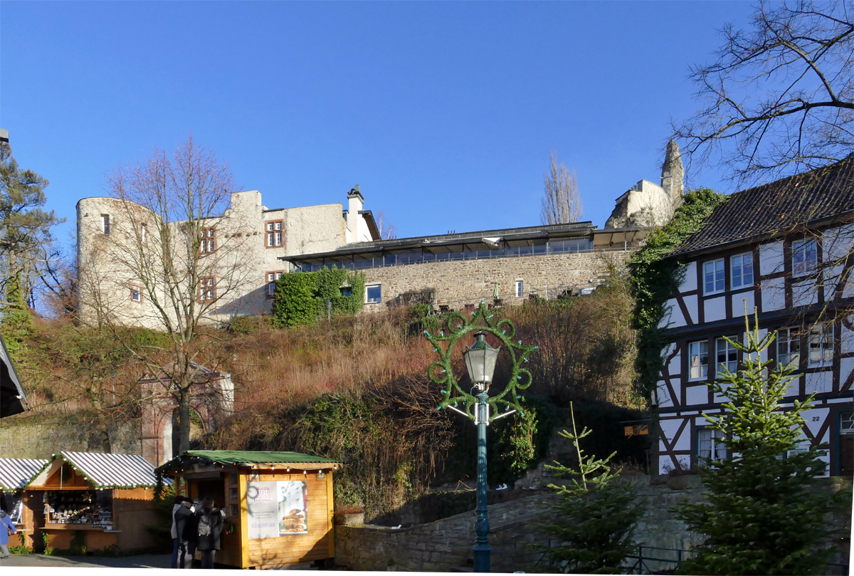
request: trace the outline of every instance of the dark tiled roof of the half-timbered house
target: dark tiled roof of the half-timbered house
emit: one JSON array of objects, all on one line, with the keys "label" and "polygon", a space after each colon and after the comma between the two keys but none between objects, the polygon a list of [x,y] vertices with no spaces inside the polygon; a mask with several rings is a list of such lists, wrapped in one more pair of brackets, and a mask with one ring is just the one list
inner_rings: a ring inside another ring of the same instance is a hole
[{"label": "dark tiled roof of the half-timbered house", "polygon": [[852,210],[854,156],[849,156],[824,168],[734,193],[670,256],[784,232]]}]

